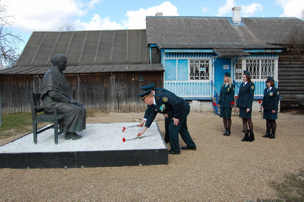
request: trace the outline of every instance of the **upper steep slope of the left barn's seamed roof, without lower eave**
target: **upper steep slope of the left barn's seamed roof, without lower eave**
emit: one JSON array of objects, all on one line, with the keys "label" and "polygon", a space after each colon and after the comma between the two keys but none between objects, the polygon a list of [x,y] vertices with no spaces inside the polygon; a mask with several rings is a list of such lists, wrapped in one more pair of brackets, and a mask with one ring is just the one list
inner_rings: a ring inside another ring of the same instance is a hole
[{"label": "upper steep slope of the left barn's seamed roof, without lower eave", "polygon": [[16,67],[51,66],[67,56],[68,65],[149,64],[146,30],[33,32]]}]

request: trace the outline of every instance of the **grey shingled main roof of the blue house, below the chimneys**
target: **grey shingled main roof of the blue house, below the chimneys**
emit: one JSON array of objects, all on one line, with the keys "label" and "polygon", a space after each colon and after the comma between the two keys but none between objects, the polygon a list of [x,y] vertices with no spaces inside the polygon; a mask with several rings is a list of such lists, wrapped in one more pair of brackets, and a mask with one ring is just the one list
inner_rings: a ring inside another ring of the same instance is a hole
[{"label": "grey shingled main roof of the blue house, below the chimneys", "polygon": [[268,43],[286,44],[292,30],[304,32],[304,21],[294,17],[241,18],[232,26],[231,17],[147,16],[148,44]]}]

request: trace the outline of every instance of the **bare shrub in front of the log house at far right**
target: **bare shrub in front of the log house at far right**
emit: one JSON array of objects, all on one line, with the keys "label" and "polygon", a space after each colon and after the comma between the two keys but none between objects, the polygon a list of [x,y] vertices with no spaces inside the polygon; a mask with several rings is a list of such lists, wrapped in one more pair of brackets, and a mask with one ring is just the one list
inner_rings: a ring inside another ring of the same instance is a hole
[{"label": "bare shrub in front of the log house at far right", "polygon": [[304,64],[304,31],[303,27],[296,27],[288,38],[289,48],[295,55],[299,56],[301,62]]}]

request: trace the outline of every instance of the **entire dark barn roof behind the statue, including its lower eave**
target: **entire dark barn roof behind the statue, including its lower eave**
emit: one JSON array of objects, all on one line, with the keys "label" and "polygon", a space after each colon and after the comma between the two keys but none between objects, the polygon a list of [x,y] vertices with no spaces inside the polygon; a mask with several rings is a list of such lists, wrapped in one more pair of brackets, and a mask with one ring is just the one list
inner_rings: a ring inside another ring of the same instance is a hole
[{"label": "entire dark barn roof behind the statue, including its lower eave", "polygon": [[44,74],[56,54],[67,56],[64,73],[163,71],[150,64],[146,30],[33,32],[15,67],[0,74]]}]

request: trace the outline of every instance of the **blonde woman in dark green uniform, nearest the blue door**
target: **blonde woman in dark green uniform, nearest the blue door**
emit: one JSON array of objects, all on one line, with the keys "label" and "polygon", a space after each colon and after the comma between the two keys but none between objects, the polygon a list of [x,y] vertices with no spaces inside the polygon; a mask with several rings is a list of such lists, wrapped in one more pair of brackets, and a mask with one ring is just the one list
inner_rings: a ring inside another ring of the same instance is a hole
[{"label": "blonde woman in dark green uniform, nearest the blue door", "polygon": [[234,84],[231,83],[230,73],[226,72],[224,75],[224,83],[219,93],[220,107],[219,117],[223,118],[225,132],[223,135],[229,136],[231,131],[231,110],[234,105]]}]

